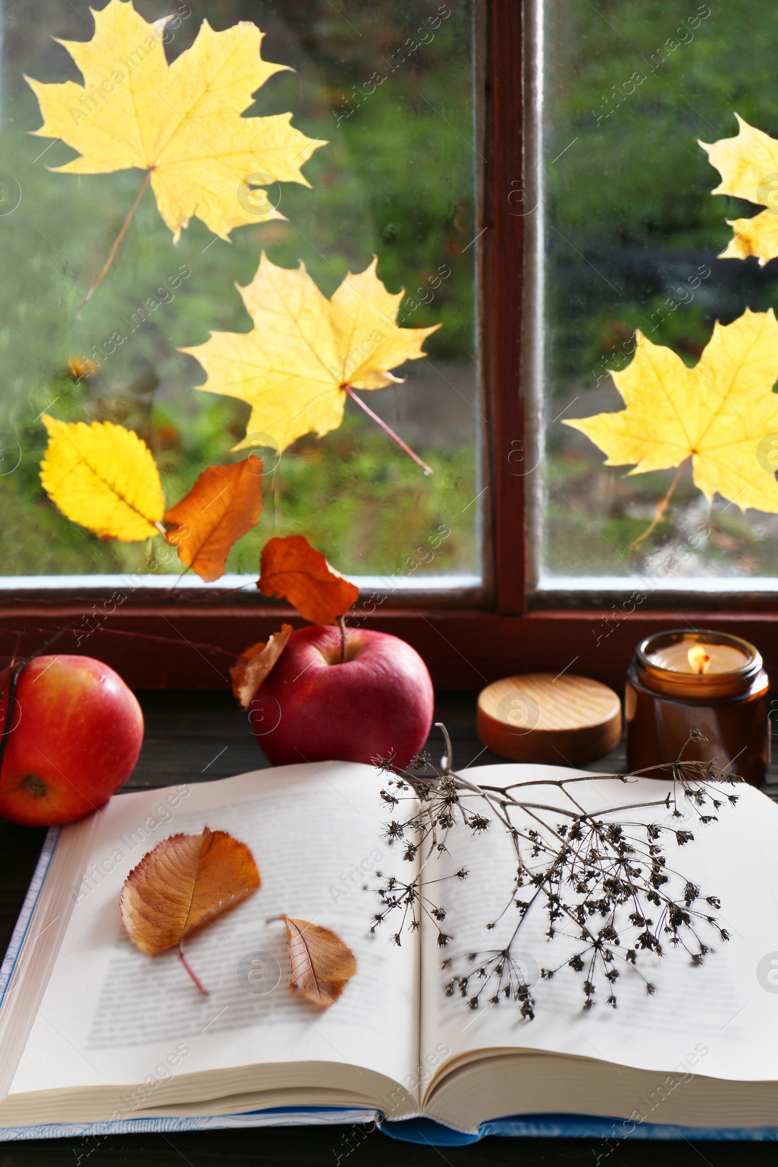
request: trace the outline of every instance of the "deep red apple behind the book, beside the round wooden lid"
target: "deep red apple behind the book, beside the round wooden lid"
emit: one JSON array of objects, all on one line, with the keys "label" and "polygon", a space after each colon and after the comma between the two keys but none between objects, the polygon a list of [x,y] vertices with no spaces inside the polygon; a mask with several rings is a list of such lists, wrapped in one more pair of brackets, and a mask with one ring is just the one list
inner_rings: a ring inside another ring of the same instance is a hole
[{"label": "deep red apple behind the book, beside the round wooden lid", "polygon": [[292,633],[251,705],[257,740],[273,766],[371,762],[407,766],[433,721],[433,683],[415,649],[386,633],[314,624]]}]

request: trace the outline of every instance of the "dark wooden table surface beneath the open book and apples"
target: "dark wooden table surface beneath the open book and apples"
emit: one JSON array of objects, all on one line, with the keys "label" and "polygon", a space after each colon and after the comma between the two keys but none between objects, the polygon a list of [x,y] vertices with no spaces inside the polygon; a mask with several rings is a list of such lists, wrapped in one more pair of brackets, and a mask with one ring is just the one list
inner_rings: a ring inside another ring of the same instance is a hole
[{"label": "dark wooden table surface beneath the open book and apples", "polygon": [[[223,778],[267,766],[257,746],[248,719],[229,693],[156,692],[138,693],[146,718],[146,740],[135,773],[126,790],[166,787],[177,782]],[[439,698],[436,721],[449,729],[456,767],[486,764],[502,759],[484,750],[476,736],[475,694],[443,693]],[[442,753],[442,738],[434,729],[428,749],[434,757]],[[563,764],[560,759],[560,764]],[[619,747],[608,759],[589,769],[624,769]],[[778,795],[777,774],[770,775],[768,792]],[[45,836],[44,830],[0,823],[0,951],[5,952],[24,893]],[[344,1138],[345,1134],[345,1138]],[[661,1163],[663,1167],[708,1163],[709,1167],[735,1163],[775,1163],[775,1144],[733,1144],[695,1141],[622,1141],[604,1139],[503,1139],[488,1138],[468,1147],[425,1147],[398,1142],[379,1131],[362,1127],[294,1127],[247,1131],[183,1132],[176,1134],[132,1134],[101,1138],[47,1139],[0,1142],[0,1167],[44,1163],[79,1167],[161,1167],[189,1163],[216,1165],[275,1163],[360,1167],[378,1163],[414,1167],[416,1163],[448,1163],[449,1167],[481,1167],[492,1163],[520,1163],[521,1167],[559,1163],[570,1167],[608,1167]]]}]

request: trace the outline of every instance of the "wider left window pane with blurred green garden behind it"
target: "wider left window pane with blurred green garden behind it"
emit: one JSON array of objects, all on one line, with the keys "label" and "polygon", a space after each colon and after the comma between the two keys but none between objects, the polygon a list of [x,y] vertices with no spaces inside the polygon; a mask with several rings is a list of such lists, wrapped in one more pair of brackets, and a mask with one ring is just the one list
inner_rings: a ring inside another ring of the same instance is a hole
[{"label": "wider left window pane with blurred green garden behind it", "polygon": [[134,429],[157,462],[167,506],[206,466],[245,457],[231,448],[246,433],[248,405],[196,391],[204,372],[177,350],[204,343],[211,329],[251,328],[234,285],[252,280],[265,250],[282,267],[302,259],[327,296],[376,254],[387,289],[407,289],[400,323],[442,323],[425,343],[426,359],[394,370],[402,384],[359,394],[434,474],[425,476],[349,400],[339,428],[299,439],[280,461],[265,442],[262,517],[233,548],[227,572],[257,573],[269,536],[299,532],[351,575],[399,573],[400,584],[478,576],[470,4],[138,0],[136,8],[149,21],[174,12],[168,61],[189,48],[204,19],[217,30],[253,21],[266,34],[262,57],[294,71],[271,77],[247,113],[292,111],[295,127],[328,145],[303,167],[310,189],[268,186],[286,218],[240,226],[231,242],[192,218],[174,245],[147,189],[77,319],[143,174],[48,169],[76,154],[63,141],[30,137],[41,114],[22,75],[80,84],[51,37],[89,41],[93,21],[78,0],[6,0],[0,572],[117,574],[150,564],[156,575],[180,573],[175,557],[161,561],[169,553],[161,537],[101,540],[48,501],[38,475],[47,441],[40,414]]}]

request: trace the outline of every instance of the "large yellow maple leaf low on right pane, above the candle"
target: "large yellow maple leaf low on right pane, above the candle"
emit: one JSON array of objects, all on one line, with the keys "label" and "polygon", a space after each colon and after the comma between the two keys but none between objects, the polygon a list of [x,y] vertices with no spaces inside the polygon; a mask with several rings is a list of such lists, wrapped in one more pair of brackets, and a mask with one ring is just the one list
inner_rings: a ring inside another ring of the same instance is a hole
[{"label": "large yellow maple leaf low on right pane, above the candle", "polygon": [[[776,435],[778,448],[778,322],[768,312],[745,309],[720,324],[700,361],[688,369],[677,352],[652,344],[640,333],[631,363],[611,372],[625,408],[565,421],[608,455],[605,466],[629,466],[630,474],[679,467],[657,504],[657,525],[686,466],[710,502],[714,494],[742,511],[778,513],[778,482],[761,443]],[[775,455],[773,455],[775,456]]]}]

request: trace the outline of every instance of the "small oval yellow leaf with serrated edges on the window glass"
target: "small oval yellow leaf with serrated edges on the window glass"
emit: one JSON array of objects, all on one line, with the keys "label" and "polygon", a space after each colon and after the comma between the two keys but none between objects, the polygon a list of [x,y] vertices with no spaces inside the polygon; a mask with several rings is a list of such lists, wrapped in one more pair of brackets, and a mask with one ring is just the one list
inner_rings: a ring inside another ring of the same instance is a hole
[{"label": "small oval yellow leaf with serrated edges on the window glass", "polygon": [[49,434],[41,482],[71,523],[122,543],[159,533],[164,497],[146,442],[112,421],[41,418]]}]

